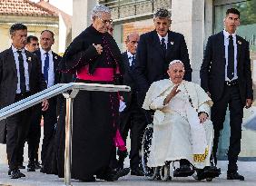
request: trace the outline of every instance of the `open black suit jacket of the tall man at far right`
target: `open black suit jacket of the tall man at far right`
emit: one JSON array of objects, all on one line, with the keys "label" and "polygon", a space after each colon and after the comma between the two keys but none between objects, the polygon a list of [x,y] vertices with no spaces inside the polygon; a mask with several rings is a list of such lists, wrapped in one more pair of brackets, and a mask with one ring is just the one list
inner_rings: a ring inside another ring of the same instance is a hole
[{"label": "open black suit jacket of the tall man at far right", "polygon": [[[239,35],[236,35],[236,43],[239,90],[241,101],[245,104],[247,98],[253,97],[249,43]],[[220,32],[209,37],[200,71],[202,88],[211,93],[213,102],[222,97],[225,64],[224,34]]]}]

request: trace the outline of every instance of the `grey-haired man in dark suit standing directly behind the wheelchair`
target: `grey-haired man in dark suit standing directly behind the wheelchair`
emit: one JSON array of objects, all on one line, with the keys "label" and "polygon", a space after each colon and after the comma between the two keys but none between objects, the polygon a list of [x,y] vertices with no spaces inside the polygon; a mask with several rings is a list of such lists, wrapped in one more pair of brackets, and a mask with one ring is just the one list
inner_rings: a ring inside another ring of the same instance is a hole
[{"label": "grey-haired man in dark suit standing directly behind the wheelchair", "polygon": [[[192,68],[184,36],[170,31],[171,23],[171,13],[166,9],[159,9],[153,15],[155,30],[140,37],[136,54],[137,64],[135,64],[140,105],[143,104],[145,94],[153,82],[169,78],[167,70],[172,60],[181,60],[185,68],[184,79],[192,80]],[[145,112],[145,114],[147,122],[152,123],[153,112]],[[186,160],[182,159],[181,168],[177,172],[192,172]]]}]

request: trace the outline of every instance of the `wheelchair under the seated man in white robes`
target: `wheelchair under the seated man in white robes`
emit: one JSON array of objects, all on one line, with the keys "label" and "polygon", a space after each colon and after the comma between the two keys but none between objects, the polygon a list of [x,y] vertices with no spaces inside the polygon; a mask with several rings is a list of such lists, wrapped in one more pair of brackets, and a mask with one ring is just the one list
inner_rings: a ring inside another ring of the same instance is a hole
[{"label": "wheelchair under the seated man in white robes", "polygon": [[[221,174],[221,169],[217,169],[215,166],[205,167],[203,169],[197,169],[192,164],[190,164],[192,171],[178,173],[177,169],[174,166],[175,162],[165,162],[164,166],[160,167],[149,167],[147,162],[150,155],[150,147],[152,144],[153,138],[153,124],[149,124],[144,133],[143,133],[143,142],[142,142],[142,165],[144,175],[151,181],[162,180],[162,181],[171,181],[172,177],[188,177],[192,176],[193,179],[197,181],[212,181],[213,178],[219,177]],[[211,160],[213,165],[213,161]],[[173,171],[171,170],[173,168]],[[207,169],[207,170],[206,170]],[[203,174],[202,174],[203,172]],[[205,173],[206,172],[206,173]],[[172,176],[171,176],[172,174]]]}]

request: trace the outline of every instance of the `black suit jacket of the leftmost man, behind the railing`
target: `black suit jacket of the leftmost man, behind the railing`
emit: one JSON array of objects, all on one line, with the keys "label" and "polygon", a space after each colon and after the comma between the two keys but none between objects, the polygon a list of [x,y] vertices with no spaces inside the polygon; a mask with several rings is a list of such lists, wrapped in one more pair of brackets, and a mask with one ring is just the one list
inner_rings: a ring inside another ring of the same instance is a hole
[{"label": "black suit jacket of the leftmost man, behind the railing", "polygon": [[[25,51],[28,63],[29,88],[32,94],[46,88],[44,75],[41,73],[41,64],[34,54]],[[17,89],[17,70],[12,48],[0,53],[0,109],[15,103]],[[5,120],[0,121],[0,142],[5,142]]]}]

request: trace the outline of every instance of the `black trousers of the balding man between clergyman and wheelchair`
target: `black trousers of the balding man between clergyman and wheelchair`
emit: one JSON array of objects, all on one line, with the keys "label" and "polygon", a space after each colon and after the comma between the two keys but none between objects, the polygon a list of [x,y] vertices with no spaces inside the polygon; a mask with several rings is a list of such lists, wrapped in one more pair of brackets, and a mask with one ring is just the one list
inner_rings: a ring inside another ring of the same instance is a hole
[{"label": "black trousers of the balding man between clergyman and wheelchair", "polygon": [[145,114],[137,103],[136,95],[132,95],[129,108],[125,108],[120,114],[120,131],[124,142],[126,142],[130,130],[131,152],[130,167],[137,169],[141,163],[140,151],[142,149],[143,132],[147,125]]}]

